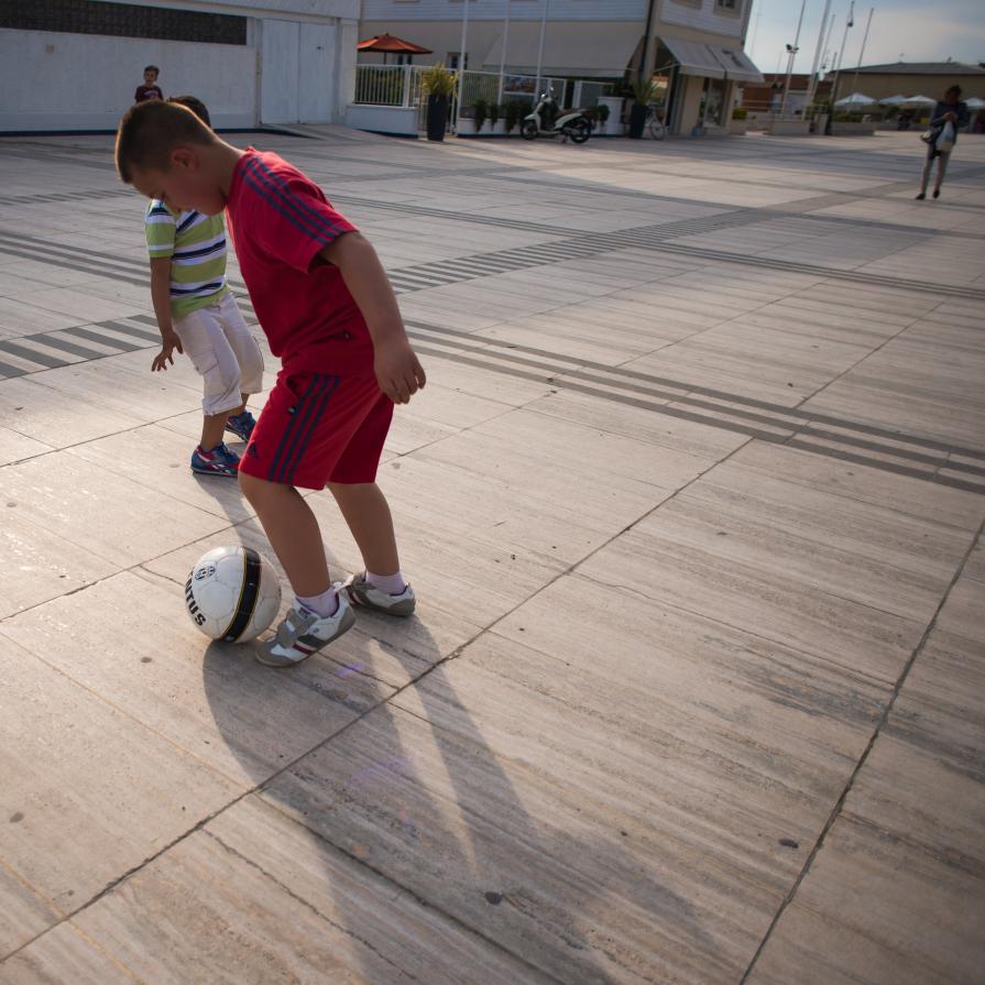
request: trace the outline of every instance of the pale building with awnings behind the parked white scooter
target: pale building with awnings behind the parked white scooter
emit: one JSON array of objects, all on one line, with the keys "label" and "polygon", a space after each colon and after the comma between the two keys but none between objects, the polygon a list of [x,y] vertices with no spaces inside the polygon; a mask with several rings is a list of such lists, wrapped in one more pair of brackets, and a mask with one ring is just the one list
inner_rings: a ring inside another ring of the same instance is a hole
[{"label": "pale building with awnings behind the parked white scooter", "polygon": [[674,132],[724,125],[734,87],[762,81],[743,52],[752,0],[363,0],[360,35],[396,34],[431,48],[424,61],[456,68],[466,2],[467,68],[611,80],[654,73]]}]

